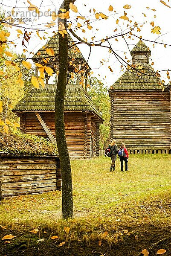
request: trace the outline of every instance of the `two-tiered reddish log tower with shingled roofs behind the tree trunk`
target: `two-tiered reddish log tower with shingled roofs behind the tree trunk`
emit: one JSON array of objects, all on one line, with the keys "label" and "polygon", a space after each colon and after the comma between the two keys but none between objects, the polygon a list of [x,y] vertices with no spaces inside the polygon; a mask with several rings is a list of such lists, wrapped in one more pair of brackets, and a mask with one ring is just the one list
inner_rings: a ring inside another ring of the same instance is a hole
[{"label": "two-tiered reddish log tower with shingled roofs behind the tree trunk", "polygon": [[[83,55],[69,38],[69,67],[68,82],[75,67],[90,70]],[[46,53],[47,48],[54,50],[54,56]],[[33,56],[34,63],[45,64],[54,70],[56,75],[55,84],[48,84],[49,76],[45,72],[46,85],[44,88],[31,88],[23,99],[18,102],[13,111],[20,116],[20,130],[26,134],[34,134],[49,138],[55,143],[55,91],[58,79],[58,33],[56,33],[38,52]],[[46,60],[46,61],[45,61]],[[45,62],[44,62],[45,61]],[[38,76],[36,67],[35,75]],[[101,114],[93,105],[90,96],[79,85],[78,77],[76,84],[67,84],[64,102],[64,122],[67,146],[70,157],[96,157],[99,156],[99,125],[103,122]],[[85,79],[86,83],[87,79]]]}]

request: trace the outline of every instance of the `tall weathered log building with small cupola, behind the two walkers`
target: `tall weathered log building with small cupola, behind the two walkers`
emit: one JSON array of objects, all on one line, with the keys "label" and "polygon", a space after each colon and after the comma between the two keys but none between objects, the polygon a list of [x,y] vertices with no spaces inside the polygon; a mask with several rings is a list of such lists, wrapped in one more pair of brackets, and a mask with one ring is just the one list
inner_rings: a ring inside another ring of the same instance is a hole
[{"label": "tall weathered log building with small cupola, behind the two walkers", "polygon": [[130,153],[171,153],[171,85],[149,63],[151,50],[140,40],[132,65],[110,86],[110,140]]}]

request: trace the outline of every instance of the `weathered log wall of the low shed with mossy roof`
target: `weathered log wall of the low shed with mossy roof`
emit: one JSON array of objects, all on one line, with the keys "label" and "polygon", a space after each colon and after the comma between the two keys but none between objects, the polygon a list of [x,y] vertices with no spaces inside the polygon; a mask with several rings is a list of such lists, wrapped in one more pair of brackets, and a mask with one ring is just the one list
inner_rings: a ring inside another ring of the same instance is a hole
[{"label": "weathered log wall of the low shed with mossy roof", "polygon": [[61,189],[59,158],[1,157],[0,181],[4,197]]}]

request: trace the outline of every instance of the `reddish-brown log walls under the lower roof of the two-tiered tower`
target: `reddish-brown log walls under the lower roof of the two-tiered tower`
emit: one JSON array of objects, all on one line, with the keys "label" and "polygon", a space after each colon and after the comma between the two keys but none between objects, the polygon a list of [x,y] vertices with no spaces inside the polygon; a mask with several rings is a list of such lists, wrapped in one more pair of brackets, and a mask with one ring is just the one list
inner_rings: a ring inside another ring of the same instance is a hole
[{"label": "reddish-brown log walls under the lower roof of the two-tiered tower", "polygon": [[[55,115],[52,112],[40,112],[45,124],[55,137]],[[91,136],[93,137],[93,156],[96,156],[96,122],[89,113],[64,113],[65,134],[70,157],[91,157]],[[35,113],[29,112],[20,117],[20,129],[27,134],[47,138]],[[99,145],[99,144],[98,144]]]}]

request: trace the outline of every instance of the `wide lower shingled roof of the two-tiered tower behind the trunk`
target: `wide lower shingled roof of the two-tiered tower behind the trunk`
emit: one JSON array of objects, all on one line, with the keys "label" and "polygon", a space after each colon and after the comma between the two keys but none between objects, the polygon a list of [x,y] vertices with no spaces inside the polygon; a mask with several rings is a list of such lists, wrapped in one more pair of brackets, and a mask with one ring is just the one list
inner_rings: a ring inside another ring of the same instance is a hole
[{"label": "wide lower shingled roof of the two-tiered tower behind the trunk", "polygon": [[[55,91],[57,84],[46,84],[44,89],[33,87],[14,107],[14,112],[55,111]],[[67,84],[64,111],[92,111],[101,120],[101,114],[93,105],[88,93],[78,84]]]}]

